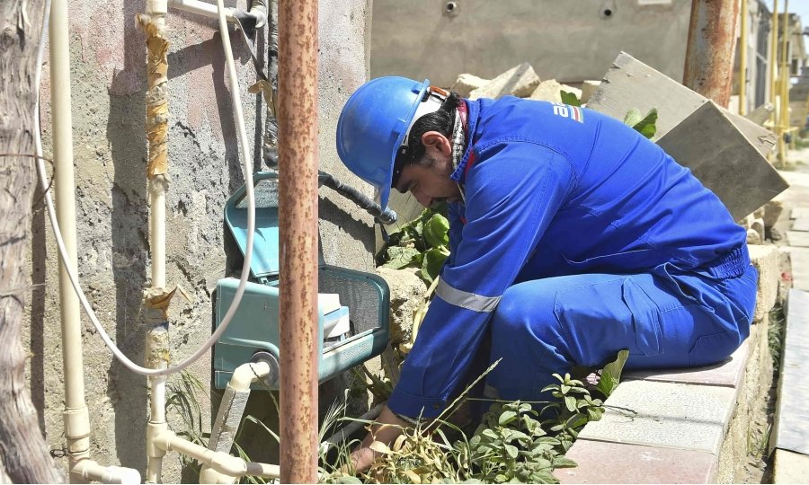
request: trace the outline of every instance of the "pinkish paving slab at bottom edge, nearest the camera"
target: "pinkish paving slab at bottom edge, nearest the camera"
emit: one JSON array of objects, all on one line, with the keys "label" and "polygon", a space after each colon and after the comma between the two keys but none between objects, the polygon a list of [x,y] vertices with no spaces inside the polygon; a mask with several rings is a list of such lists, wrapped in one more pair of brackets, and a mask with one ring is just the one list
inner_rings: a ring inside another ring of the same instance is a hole
[{"label": "pinkish paving slab at bottom edge, nearest the camera", "polygon": [[565,456],[579,466],[554,471],[561,483],[716,482],[716,456],[705,452],[578,439]]}]

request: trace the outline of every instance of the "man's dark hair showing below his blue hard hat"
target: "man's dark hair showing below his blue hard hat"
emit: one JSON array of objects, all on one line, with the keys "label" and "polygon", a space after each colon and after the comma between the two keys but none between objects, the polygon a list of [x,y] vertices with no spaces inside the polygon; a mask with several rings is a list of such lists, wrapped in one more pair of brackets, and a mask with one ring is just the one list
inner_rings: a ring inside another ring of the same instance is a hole
[{"label": "man's dark hair showing below his blue hard hat", "polygon": [[[424,93],[424,96],[424,101],[426,101],[427,96],[430,96],[430,92]],[[425,152],[424,145],[422,145],[422,135],[428,131],[438,131],[444,137],[448,137],[450,140],[452,139],[452,131],[453,128],[455,128],[455,112],[456,108],[458,108],[458,103],[461,102],[463,101],[461,101],[461,97],[458,96],[458,93],[450,92],[447,99],[441,103],[441,107],[437,111],[425,114],[422,118],[417,119],[416,122],[413,123],[413,128],[410,129],[410,136],[407,137],[407,145],[402,145],[399,148],[399,153],[396,154],[391,187],[396,186],[399,175],[401,175],[402,170],[407,165],[422,163]]]}]

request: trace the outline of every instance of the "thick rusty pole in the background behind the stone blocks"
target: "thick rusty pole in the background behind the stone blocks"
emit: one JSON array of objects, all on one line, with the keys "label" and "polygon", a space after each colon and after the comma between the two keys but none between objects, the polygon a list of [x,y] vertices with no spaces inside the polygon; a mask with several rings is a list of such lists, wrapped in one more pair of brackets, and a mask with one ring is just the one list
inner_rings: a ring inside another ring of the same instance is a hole
[{"label": "thick rusty pole in the background behind the stone blocks", "polygon": [[739,0],[692,0],[682,84],[725,108],[733,86]]}]

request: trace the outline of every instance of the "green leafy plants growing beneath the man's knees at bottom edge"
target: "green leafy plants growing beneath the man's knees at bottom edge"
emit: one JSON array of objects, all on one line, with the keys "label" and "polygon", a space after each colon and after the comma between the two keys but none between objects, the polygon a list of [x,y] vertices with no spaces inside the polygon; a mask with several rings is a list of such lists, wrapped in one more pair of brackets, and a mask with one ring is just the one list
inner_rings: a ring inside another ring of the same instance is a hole
[{"label": "green leafy plants growing beneath the man's knees at bottom edge", "polygon": [[[607,375],[611,392],[620,378],[628,351],[618,353],[600,374]],[[601,419],[604,405],[593,398],[582,381],[570,375],[554,375],[557,381],[545,387],[547,402],[494,401],[474,433],[459,428],[450,418],[467,392],[497,363],[470,384],[438,419],[413,428],[390,445],[375,443],[380,454],[369,472],[354,478],[346,468],[333,472],[331,483],[556,483],[553,471],[574,467],[565,453],[582,428]],[[601,392],[597,387],[592,387]],[[540,412],[537,406],[544,404]],[[351,420],[351,419],[349,419]],[[372,424],[372,423],[368,423]],[[349,463],[349,451],[342,463]],[[351,481],[351,480],[355,481]]]}]

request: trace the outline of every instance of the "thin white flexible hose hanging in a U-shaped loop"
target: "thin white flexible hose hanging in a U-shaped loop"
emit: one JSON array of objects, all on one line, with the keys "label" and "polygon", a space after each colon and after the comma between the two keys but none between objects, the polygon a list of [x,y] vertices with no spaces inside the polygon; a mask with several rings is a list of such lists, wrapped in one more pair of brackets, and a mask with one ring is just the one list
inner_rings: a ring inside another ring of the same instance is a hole
[{"label": "thin white flexible hose hanging in a U-shaped loop", "polygon": [[[49,4],[49,0],[46,0]],[[222,35],[222,47],[225,49],[225,58],[227,59],[227,74],[230,77],[230,95],[231,100],[234,105],[234,110],[236,111],[236,125],[238,127],[238,134],[239,134],[239,141],[242,145],[242,163],[244,167],[244,180],[245,180],[245,188],[247,190],[247,243],[244,250],[244,265],[242,266],[242,275],[239,279],[239,286],[236,288],[236,295],[233,297],[233,302],[231,302],[230,306],[227,308],[227,313],[225,313],[225,318],[222,319],[222,322],[219,324],[217,331],[213,332],[210,336],[209,340],[205,342],[205,344],[200,347],[199,350],[194,352],[191,357],[183,360],[181,363],[177,364],[176,366],[171,366],[165,369],[149,369],[147,367],[138,366],[131,360],[129,357],[125,356],[123,352],[121,352],[120,348],[115,345],[102,327],[101,322],[98,321],[98,318],[93,312],[93,308],[90,306],[90,303],[87,302],[87,298],[84,296],[84,291],[79,286],[78,277],[76,277],[76,273],[71,268],[72,265],[67,264],[69,262],[67,258],[67,250],[65,249],[65,242],[62,240],[62,234],[59,231],[59,225],[56,218],[56,212],[53,208],[53,198],[50,196],[49,185],[45,173],[45,163],[42,161],[42,139],[40,137],[40,70],[42,66],[42,53],[44,52],[43,46],[45,45],[45,33],[47,28],[43,30],[43,37],[42,42],[40,43],[40,52],[38,53],[37,57],[37,67],[36,67],[36,75],[35,75],[35,85],[37,86],[37,93],[36,93],[36,104],[34,107],[34,144],[37,154],[37,169],[40,174],[40,185],[42,190],[45,192],[45,204],[48,207],[48,215],[50,217],[50,224],[53,225],[53,232],[56,236],[56,242],[59,248],[59,254],[62,257],[62,264],[67,269],[67,275],[70,277],[70,282],[73,284],[73,288],[76,290],[76,295],[78,295],[79,301],[81,302],[82,306],[84,307],[84,311],[87,313],[87,316],[90,317],[90,322],[93,322],[93,326],[95,330],[98,331],[99,336],[102,338],[107,347],[110,348],[112,354],[120,360],[120,362],[126,366],[132,372],[135,372],[140,375],[169,375],[175,372],[179,372],[187,366],[191,366],[191,364],[200,358],[205,352],[208,351],[213,344],[219,340],[219,337],[222,336],[222,333],[227,329],[227,325],[230,323],[233,315],[236,313],[236,309],[238,308],[239,303],[242,300],[242,295],[244,295],[244,287],[247,284],[247,278],[250,276],[250,262],[253,259],[253,233],[255,232],[255,197],[253,194],[253,170],[250,166],[249,160],[249,145],[247,145],[247,129],[244,128],[244,114],[242,112],[242,101],[241,96],[239,94],[239,81],[238,77],[236,76],[236,66],[234,65],[233,60],[233,51],[230,48],[230,38],[227,32],[227,21],[225,19],[225,6],[222,0],[218,0],[218,14],[219,14],[219,30],[221,31]],[[49,19],[50,12],[46,12],[46,25]]]}]

